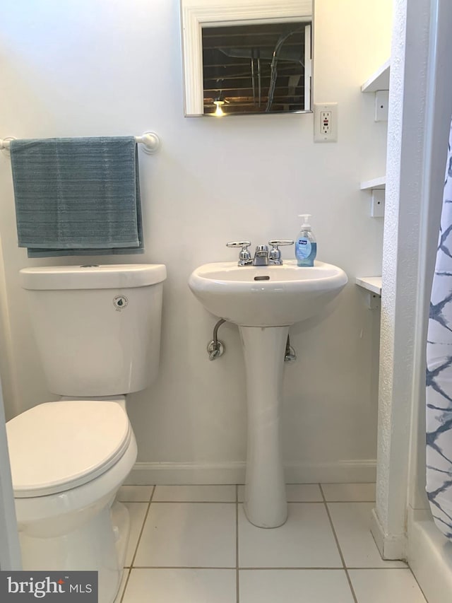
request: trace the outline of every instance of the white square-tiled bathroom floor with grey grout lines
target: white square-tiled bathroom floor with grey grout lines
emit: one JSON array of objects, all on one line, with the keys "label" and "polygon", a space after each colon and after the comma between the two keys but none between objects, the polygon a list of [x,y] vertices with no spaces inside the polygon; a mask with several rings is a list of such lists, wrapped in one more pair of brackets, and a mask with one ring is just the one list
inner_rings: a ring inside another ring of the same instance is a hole
[{"label": "white square-tiled bathroom floor with grey grout lines", "polygon": [[251,525],[243,486],[123,486],[131,537],[116,603],[426,603],[369,531],[374,484],[291,484],[289,518]]}]

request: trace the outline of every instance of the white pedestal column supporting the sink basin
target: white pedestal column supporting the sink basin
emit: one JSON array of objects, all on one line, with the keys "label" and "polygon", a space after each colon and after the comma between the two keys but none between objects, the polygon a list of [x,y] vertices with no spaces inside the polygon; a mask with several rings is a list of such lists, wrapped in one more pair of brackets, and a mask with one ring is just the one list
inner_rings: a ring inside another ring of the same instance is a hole
[{"label": "white pedestal column supporting the sink basin", "polygon": [[287,520],[280,406],[289,327],[239,327],[246,367],[248,442],[244,510],[258,527]]}]

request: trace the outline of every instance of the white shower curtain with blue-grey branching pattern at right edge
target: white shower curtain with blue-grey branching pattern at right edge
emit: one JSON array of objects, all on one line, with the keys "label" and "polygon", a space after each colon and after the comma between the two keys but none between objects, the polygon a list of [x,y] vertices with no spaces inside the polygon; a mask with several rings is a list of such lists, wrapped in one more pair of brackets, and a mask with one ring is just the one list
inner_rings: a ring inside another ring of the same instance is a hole
[{"label": "white shower curtain with blue-grey branching pattern at right edge", "polygon": [[427,333],[427,496],[452,540],[452,124]]}]

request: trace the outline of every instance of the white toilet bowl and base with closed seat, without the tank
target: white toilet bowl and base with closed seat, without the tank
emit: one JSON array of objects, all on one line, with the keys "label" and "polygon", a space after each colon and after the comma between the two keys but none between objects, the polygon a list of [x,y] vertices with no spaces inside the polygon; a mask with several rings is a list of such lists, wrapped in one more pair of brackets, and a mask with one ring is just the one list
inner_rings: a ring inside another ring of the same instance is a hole
[{"label": "white toilet bowl and base with closed seat, without the tank", "polygon": [[119,588],[129,515],[114,497],[137,455],[117,402],[39,404],[6,426],[23,569],[96,570],[100,603]]}]

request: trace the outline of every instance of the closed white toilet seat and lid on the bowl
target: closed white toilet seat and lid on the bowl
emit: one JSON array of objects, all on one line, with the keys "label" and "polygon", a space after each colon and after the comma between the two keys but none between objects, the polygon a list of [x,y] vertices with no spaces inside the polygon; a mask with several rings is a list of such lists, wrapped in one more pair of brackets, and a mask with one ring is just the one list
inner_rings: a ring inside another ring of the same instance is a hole
[{"label": "closed white toilet seat and lid on the bowl", "polygon": [[119,404],[47,402],[6,423],[15,498],[64,492],[107,472],[131,441]]}]

